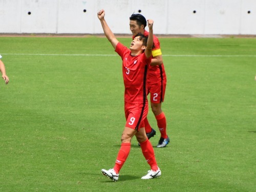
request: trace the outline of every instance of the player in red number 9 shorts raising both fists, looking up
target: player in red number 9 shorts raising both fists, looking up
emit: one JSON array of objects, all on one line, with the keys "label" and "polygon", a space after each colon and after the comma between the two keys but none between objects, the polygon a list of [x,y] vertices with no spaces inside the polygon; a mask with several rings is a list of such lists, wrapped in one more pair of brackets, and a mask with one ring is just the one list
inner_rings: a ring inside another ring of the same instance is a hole
[{"label": "player in red number 9 shorts raising both fists, looking up", "polygon": [[112,169],[101,169],[104,176],[113,181],[119,178],[119,171],[126,161],[130,150],[131,140],[136,136],[141,145],[142,154],[151,170],[141,179],[153,179],[161,175],[157,165],[153,146],[147,139],[143,120],[147,115],[148,103],[146,98],[146,72],[151,63],[153,47],[153,20],[148,19],[148,39],[138,34],[132,40],[130,48],[124,47],[115,37],[104,19],[105,12],[100,10],[98,18],[106,38],[111,42],[115,51],[122,58],[122,73],[124,81],[124,111],[126,124],[121,136],[121,147],[117,155],[115,166]]}]

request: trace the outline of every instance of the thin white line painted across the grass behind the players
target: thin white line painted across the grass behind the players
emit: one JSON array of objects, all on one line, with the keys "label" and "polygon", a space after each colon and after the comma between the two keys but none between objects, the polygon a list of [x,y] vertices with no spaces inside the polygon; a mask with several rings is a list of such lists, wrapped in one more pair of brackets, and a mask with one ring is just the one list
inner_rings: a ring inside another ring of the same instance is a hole
[{"label": "thin white line painted across the grass behind the players", "polygon": [[[117,54],[30,54],[30,53],[1,53],[1,55],[39,55],[39,56],[118,56]],[[256,57],[256,55],[163,55],[164,57]]]}]

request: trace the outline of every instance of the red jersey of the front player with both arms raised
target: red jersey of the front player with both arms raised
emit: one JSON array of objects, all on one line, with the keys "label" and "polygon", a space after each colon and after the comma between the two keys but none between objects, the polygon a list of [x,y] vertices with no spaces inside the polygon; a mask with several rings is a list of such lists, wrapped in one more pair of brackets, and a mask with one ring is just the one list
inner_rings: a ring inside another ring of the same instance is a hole
[{"label": "red jersey of the front player with both arms raised", "polygon": [[121,56],[124,101],[129,103],[143,103],[146,99],[146,73],[151,63],[151,57],[146,58],[145,53],[132,56],[131,50],[118,42],[115,50]]}]

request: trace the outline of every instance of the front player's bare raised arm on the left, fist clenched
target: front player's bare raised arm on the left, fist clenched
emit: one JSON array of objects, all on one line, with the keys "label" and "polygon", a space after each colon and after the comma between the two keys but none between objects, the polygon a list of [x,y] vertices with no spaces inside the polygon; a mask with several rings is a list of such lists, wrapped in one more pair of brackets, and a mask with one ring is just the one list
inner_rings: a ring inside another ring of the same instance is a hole
[{"label": "front player's bare raised arm on the left, fist clenched", "polygon": [[114,49],[116,49],[116,45],[118,44],[119,41],[116,39],[114,33],[111,31],[108,24],[106,24],[104,16],[105,16],[105,11],[102,9],[98,12],[98,18],[100,20],[100,23],[106,38],[108,38],[108,40],[111,42]]}]

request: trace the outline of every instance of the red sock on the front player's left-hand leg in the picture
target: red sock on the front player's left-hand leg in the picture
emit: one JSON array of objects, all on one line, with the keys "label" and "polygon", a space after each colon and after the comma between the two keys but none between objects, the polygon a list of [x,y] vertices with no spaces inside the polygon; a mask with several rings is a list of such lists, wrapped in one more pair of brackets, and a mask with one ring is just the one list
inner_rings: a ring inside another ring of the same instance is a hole
[{"label": "red sock on the front player's left-hand leg in the picture", "polygon": [[130,150],[131,150],[131,143],[121,143],[121,147],[117,154],[116,163],[114,166],[114,170],[116,174],[118,174],[119,170],[122,168],[124,162],[129,156]]}]

